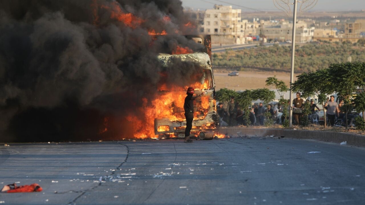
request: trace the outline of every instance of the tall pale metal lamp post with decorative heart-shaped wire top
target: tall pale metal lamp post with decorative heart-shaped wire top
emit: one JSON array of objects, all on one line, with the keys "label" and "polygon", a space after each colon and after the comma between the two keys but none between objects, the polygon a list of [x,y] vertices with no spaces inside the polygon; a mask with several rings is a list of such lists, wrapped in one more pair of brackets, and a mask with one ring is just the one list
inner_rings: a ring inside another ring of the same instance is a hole
[{"label": "tall pale metal lamp post with decorative heart-shaped wire top", "polygon": [[294,3],[290,3],[290,0],[273,0],[274,5],[277,9],[284,11],[289,16],[291,14],[291,4],[294,4],[293,9],[293,33],[292,33],[292,59],[291,59],[291,70],[290,70],[290,90],[289,90],[289,127],[293,125],[293,92],[292,92],[292,83],[294,79],[294,54],[295,54],[295,28],[296,28],[296,10],[297,4],[301,3],[299,7],[300,13],[307,11],[313,8],[318,0],[294,0]]}]

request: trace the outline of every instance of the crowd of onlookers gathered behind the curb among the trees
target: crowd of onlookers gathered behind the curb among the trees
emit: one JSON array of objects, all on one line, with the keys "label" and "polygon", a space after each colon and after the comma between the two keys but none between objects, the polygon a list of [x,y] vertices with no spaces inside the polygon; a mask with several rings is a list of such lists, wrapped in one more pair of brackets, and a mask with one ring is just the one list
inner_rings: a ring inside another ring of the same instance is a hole
[{"label": "crowd of onlookers gathered behind the curb among the trees", "polygon": [[[309,99],[308,99],[309,100]],[[314,103],[314,99],[310,99],[310,110],[311,114],[308,115],[308,119],[312,122],[313,119],[319,120],[318,112],[321,109]],[[293,124],[294,125],[301,125],[301,120],[303,119],[303,108],[306,100],[301,98],[301,93],[296,93],[296,98],[292,102],[293,108]],[[289,100],[288,100],[289,105]],[[334,96],[330,96],[327,99],[326,103],[324,104],[324,108],[327,109],[327,120],[328,125],[333,126],[335,124],[335,117],[337,116],[338,119],[344,119],[345,113],[341,111],[341,107],[343,106],[343,100],[339,100],[339,103],[335,101]],[[271,119],[273,123],[281,124],[285,120],[288,119],[288,115],[280,115],[283,112],[284,106],[275,103],[275,104],[268,104],[267,107],[264,107],[262,102],[255,103],[251,107],[247,109],[240,108],[237,102],[235,102],[234,96],[231,96],[231,100],[227,103],[226,108],[222,102],[219,102],[217,107],[217,112],[220,118],[220,124],[222,126],[236,126],[236,125],[247,125],[245,112],[250,112],[249,125],[254,126],[262,126],[264,125],[265,119]],[[269,113],[269,114],[266,114]],[[355,116],[351,113],[347,114],[347,119],[349,120],[349,125],[352,124]]]}]

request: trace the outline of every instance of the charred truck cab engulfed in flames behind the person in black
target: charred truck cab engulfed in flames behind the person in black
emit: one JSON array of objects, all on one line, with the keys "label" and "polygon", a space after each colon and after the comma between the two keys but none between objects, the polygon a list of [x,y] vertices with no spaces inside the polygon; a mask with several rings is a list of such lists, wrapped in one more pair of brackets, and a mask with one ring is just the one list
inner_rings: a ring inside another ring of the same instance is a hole
[{"label": "charred truck cab engulfed in flames behind the person in black", "polygon": [[200,82],[197,82],[194,85],[186,85],[185,88],[178,89],[164,88],[164,86],[162,86],[158,89],[161,95],[170,92],[175,93],[173,96],[180,96],[176,97],[180,98],[180,102],[176,102],[169,107],[173,110],[172,117],[154,119],[154,133],[159,136],[174,135],[184,137],[186,120],[184,117],[183,99],[186,96],[186,88],[191,86],[195,89],[194,94],[204,93],[202,97],[197,98],[194,102],[194,119],[191,135],[199,136],[200,139],[204,139],[204,132],[213,131],[218,125],[219,119],[215,106],[215,82],[211,63],[210,35],[188,35],[185,37],[194,40],[196,43],[201,43],[204,45],[204,49],[189,54],[160,54],[157,57],[158,61],[160,61],[163,66],[173,66],[174,59],[179,59],[181,62],[192,62],[195,65],[202,67],[203,74],[200,76]]}]

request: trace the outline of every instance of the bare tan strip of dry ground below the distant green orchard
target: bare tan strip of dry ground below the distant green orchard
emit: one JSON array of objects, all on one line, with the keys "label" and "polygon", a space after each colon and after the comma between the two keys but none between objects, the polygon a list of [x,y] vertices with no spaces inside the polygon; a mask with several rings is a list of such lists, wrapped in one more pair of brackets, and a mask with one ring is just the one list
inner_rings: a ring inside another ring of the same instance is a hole
[{"label": "bare tan strip of dry ground below the distant green orchard", "polygon": [[[230,71],[214,70],[215,89],[228,88],[232,90],[246,90],[257,88],[274,89],[271,86],[265,86],[266,78],[276,76],[279,80],[284,81],[288,86],[290,82],[290,73],[269,72],[269,71],[239,71],[239,76],[228,76]],[[294,74],[294,77],[297,74]],[[295,78],[296,79],[296,78]],[[294,79],[294,80],[295,80]]]}]

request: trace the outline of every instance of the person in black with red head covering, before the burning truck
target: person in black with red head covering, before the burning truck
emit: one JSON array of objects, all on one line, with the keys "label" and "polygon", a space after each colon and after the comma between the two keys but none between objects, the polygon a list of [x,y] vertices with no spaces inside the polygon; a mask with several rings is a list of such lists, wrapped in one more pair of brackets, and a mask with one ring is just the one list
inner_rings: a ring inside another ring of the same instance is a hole
[{"label": "person in black with red head covering, before the burning truck", "polygon": [[193,140],[190,139],[190,131],[191,131],[191,128],[193,126],[193,118],[194,118],[194,116],[193,116],[193,113],[194,113],[193,100],[195,100],[197,97],[200,97],[203,93],[200,93],[199,96],[193,97],[194,88],[189,87],[186,94],[187,94],[187,96],[185,97],[185,102],[184,102],[184,111],[185,111],[185,119],[186,119],[184,142],[193,142]]}]

